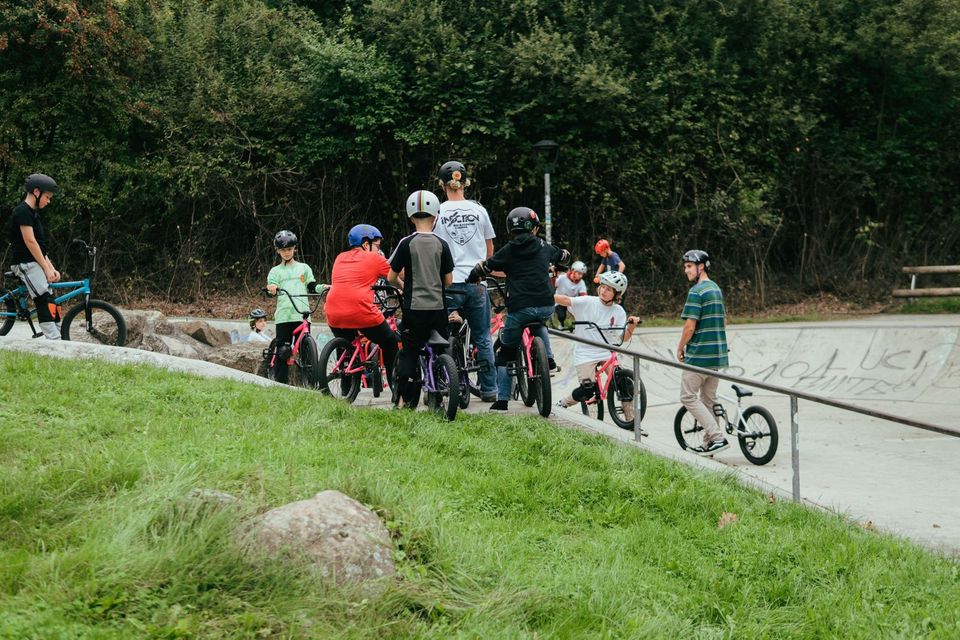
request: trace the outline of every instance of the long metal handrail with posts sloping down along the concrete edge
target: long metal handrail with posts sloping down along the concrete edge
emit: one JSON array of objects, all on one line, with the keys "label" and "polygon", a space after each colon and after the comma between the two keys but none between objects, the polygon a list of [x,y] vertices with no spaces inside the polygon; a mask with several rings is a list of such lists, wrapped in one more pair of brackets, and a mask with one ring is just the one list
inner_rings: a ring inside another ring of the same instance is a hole
[{"label": "long metal handrail with posts sloping down along the concrete edge", "polygon": [[[791,389],[789,387],[782,387],[780,385],[770,384],[768,382],[751,380],[749,378],[736,376],[730,373],[723,373],[721,371],[715,371],[713,369],[704,369],[702,367],[695,367],[693,365],[684,364],[682,362],[674,362],[673,360],[666,360],[665,358],[661,358],[659,356],[655,356],[651,354],[639,353],[631,349],[618,347],[615,345],[607,344],[605,342],[598,342],[596,340],[587,340],[586,338],[575,336],[567,331],[559,331],[557,329],[547,329],[547,331],[549,331],[552,335],[559,336],[561,338],[566,338],[567,340],[573,340],[574,342],[590,345],[591,347],[609,349],[610,351],[616,351],[617,353],[623,354],[625,356],[631,356],[633,358],[634,390],[640,388],[640,384],[638,380],[640,374],[638,372],[640,370],[640,360],[642,359],[642,360],[647,360],[649,362],[654,362],[656,364],[661,364],[667,367],[682,369],[684,371],[692,371],[693,373],[706,374],[709,376],[713,376],[715,378],[720,378],[721,380],[736,382],[749,387],[765,389],[767,391],[773,391],[774,393],[779,393],[782,395],[789,396],[790,397],[790,459],[791,459],[791,466],[793,467],[793,499],[797,502],[800,501],[800,447],[799,447],[800,425],[799,425],[799,420],[797,418],[797,399],[799,398],[802,398],[809,402],[816,402],[818,404],[824,404],[827,406],[836,407],[837,409],[843,409],[844,411],[852,411],[854,413],[870,416],[871,418],[879,418],[881,420],[897,422],[899,424],[903,424],[908,427],[923,429],[925,431],[933,431],[934,433],[940,433],[943,435],[960,438],[960,430],[951,429],[950,427],[945,427],[943,425],[932,424],[929,422],[924,422],[922,420],[914,420],[913,418],[906,418],[904,416],[898,416],[892,413],[886,413],[884,411],[877,411],[876,409],[867,409],[866,407],[850,404],[849,402],[834,400],[832,398],[825,398],[823,396],[818,396],[813,393],[807,393],[806,391],[798,391],[796,389]],[[636,391],[634,391],[634,393],[636,393]],[[634,440],[639,442],[640,437],[641,437],[640,412],[636,411],[634,412],[633,438]]]}]

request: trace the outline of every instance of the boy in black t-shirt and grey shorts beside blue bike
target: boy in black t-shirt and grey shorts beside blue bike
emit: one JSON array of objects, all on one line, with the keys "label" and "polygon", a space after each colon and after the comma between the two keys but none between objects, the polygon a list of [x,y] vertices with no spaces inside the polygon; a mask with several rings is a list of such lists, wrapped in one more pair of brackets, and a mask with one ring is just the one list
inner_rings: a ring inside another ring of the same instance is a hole
[{"label": "boy in black t-shirt and grey shorts beside blue bike", "polygon": [[50,204],[59,187],[50,176],[34,173],[27,176],[23,190],[26,196],[14,207],[7,222],[7,239],[12,250],[10,270],[19,276],[33,298],[43,335],[49,340],[59,340],[60,329],[50,312],[53,298],[49,284],[60,280],[60,272],[47,255],[47,239],[40,220],[40,209]]}]

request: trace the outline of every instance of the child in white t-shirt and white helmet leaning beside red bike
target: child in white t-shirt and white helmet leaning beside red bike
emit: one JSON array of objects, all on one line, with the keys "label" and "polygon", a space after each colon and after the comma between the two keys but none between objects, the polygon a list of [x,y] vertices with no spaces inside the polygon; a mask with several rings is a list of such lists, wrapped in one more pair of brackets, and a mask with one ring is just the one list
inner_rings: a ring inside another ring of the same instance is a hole
[{"label": "child in white t-shirt and white helmet leaning beside red bike", "polygon": [[[621,327],[626,325],[623,331],[623,342],[629,342],[633,336],[633,330],[640,322],[640,318],[637,316],[627,317],[623,307],[620,306],[620,300],[626,290],[627,276],[619,271],[607,271],[600,274],[597,295],[572,298],[558,294],[554,296],[554,299],[558,305],[569,308],[578,321],[593,322],[603,331],[608,331],[607,327],[619,331]],[[597,329],[589,325],[577,325],[574,329],[574,335],[595,342],[604,342],[603,336],[599,335]],[[578,342],[573,348],[573,363],[577,369],[577,379],[580,381],[580,386],[566,398],[560,400],[557,406],[572,407],[581,401],[590,399],[596,391],[594,380],[597,366],[603,364],[609,358],[609,349]],[[633,420],[632,399],[623,401],[623,417],[628,421]]]}]

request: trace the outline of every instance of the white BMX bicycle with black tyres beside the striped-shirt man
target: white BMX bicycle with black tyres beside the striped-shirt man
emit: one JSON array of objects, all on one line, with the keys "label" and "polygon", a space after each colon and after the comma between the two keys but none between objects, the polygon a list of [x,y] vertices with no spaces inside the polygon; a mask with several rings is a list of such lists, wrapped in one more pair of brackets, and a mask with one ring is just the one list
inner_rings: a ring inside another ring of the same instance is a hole
[{"label": "white BMX bicycle with black tyres beside the striped-shirt man", "polygon": [[[713,405],[713,414],[717,416],[718,421],[722,420],[722,424],[726,425],[726,432],[729,435],[737,436],[740,450],[743,451],[743,456],[747,460],[756,465],[767,464],[776,455],[777,443],[780,441],[777,421],[766,408],[759,405],[742,408],[741,399],[752,396],[753,391],[738,385],[731,386],[737,394],[734,419],[730,419],[730,413],[720,402]],[[718,393],[717,397],[729,403],[734,402],[733,398],[722,393]],[[677,411],[677,417],[673,420],[673,433],[682,449],[703,444],[703,426],[687,412],[686,407],[680,407]]]}]

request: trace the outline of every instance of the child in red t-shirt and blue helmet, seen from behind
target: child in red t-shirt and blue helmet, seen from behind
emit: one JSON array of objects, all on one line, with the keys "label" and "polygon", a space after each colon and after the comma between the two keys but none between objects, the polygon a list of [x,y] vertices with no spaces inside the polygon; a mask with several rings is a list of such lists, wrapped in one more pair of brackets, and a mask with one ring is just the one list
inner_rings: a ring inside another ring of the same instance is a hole
[{"label": "child in red t-shirt and blue helmet, seen from behind", "polygon": [[397,334],[374,304],[374,292],[370,289],[390,273],[390,263],[380,253],[382,242],[383,234],[373,225],[358,224],[347,232],[350,248],[333,261],[323,310],[334,336],[352,342],[359,331],[370,342],[380,345],[389,381],[397,357]]}]

